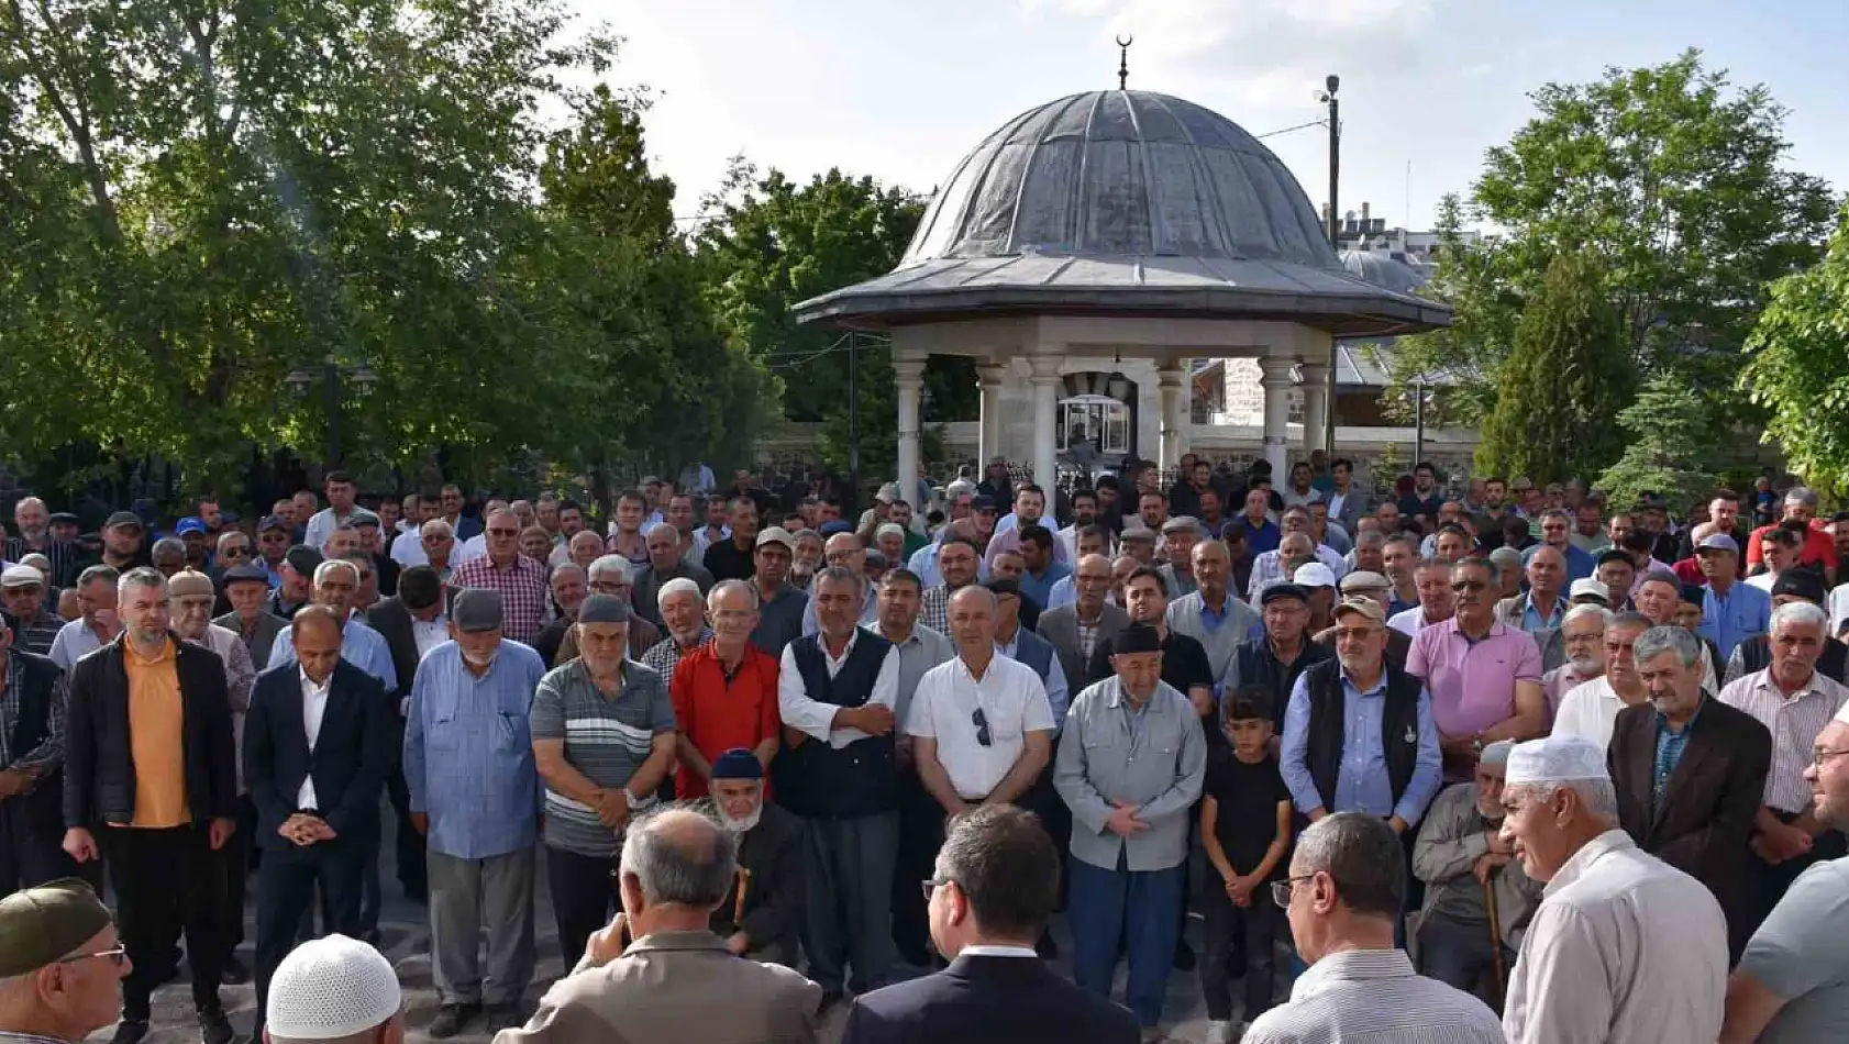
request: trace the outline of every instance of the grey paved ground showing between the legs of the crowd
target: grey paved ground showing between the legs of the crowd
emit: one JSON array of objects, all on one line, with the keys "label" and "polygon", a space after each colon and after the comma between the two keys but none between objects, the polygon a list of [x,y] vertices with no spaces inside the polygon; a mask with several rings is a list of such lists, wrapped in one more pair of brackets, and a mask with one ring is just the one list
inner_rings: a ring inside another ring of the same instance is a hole
[{"label": "grey paved ground showing between the legs of the crowd", "polygon": [[[425,920],[425,909],[418,904],[409,902],[390,867],[392,859],[392,820],[386,813],[386,833],[381,850],[385,854],[386,865],[381,867],[383,889],[385,889],[385,909],[379,918],[381,931],[381,950],[398,968],[398,979],[405,989],[405,1022],[409,1027],[409,1040],[412,1044],[427,1044],[431,1038],[423,1033],[431,1018],[436,1014],[436,987],[431,979],[431,959],[429,959],[429,924]],[[542,856],[544,859],[544,856]],[[558,931],[553,924],[551,898],[545,889],[545,870],[544,863],[534,874],[536,880],[536,909],[534,909],[534,935],[538,939],[538,968],[534,970],[533,987],[527,990],[527,1009],[538,1003],[545,989],[564,974],[564,963],[558,955]],[[246,966],[255,965],[251,955],[251,946],[257,937],[255,917],[255,878],[251,880],[250,894],[246,896],[244,907],[244,946],[239,950],[239,957]],[[1200,920],[1191,918],[1189,939],[1194,950],[1200,952]],[[1054,924],[1054,939],[1059,942],[1061,953],[1071,952],[1071,937],[1065,931],[1063,918]],[[1071,974],[1071,968],[1061,968]],[[1122,1000],[1122,979],[1124,966],[1117,968],[1117,998]],[[255,987],[224,987],[220,990],[224,998],[226,1013],[231,1016],[231,1026],[239,1035],[248,1035],[255,1016]],[[1235,998],[1237,987],[1235,987]],[[1172,972],[1169,977],[1169,1002],[1163,1009],[1163,1026],[1169,1027],[1169,1038],[1176,1044],[1198,1044],[1204,1040],[1207,1031],[1206,1007],[1200,1002],[1200,989],[1196,972]],[[832,1042],[841,1031],[845,1020],[845,1007],[838,1007],[825,1020],[823,1038]],[[104,1029],[91,1040],[107,1042],[115,1029]],[[148,1035],[148,1044],[196,1044],[200,1038],[198,1024],[192,1018],[192,996],[187,987],[185,968],[181,966],[179,977],[161,987],[153,996],[153,1026]],[[477,1018],[460,1037],[453,1038],[457,1044],[486,1044],[488,1035],[483,1031],[483,1024]]]}]

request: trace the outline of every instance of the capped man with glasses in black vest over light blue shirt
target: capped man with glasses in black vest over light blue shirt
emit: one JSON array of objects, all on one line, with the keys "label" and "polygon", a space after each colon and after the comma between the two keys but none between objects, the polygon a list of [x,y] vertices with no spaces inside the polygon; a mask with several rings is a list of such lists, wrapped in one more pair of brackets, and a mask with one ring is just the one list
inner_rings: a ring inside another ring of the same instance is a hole
[{"label": "capped man with glasses in black vest over light blue shirt", "polygon": [[[1350,717],[1366,722],[1359,750],[1344,739]],[[1442,763],[1431,698],[1418,678],[1387,665],[1387,613],[1374,599],[1335,606],[1335,660],[1304,671],[1291,689],[1281,769],[1296,811],[1311,822],[1361,811],[1411,837],[1437,796]]]}]

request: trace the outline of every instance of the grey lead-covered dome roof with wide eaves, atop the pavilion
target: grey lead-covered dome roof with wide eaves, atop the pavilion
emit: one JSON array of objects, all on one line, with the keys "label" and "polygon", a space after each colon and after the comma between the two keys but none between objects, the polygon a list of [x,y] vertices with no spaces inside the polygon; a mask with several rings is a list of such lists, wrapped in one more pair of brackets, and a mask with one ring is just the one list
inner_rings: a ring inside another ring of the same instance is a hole
[{"label": "grey lead-covered dome roof with wide eaves, atop the pavilion", "polygon": [[899,268],[795,307],[856,329],[1022,314],[1450,325],[1342,268],[1296,177],[1231,120],[1093,91],[1008,120],[937,190]]}]

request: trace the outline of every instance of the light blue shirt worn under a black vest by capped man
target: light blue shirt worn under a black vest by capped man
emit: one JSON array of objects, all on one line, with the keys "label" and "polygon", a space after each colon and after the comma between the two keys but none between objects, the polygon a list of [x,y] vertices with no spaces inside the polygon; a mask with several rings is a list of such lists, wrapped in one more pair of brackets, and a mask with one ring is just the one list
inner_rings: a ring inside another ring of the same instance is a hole
[{"label": "light blue shirt worn under a black vest by capped man", "polygon": [[1413,778],[1392,800],[1392,782],[1387,778],[1387,750],[1381,747],[1381,715],[1387,710],[1387,674],[1366,693],[1355,689],[1342,671],[1342,761],[1335,774],[1335,800],[1324,800],[1309,774],[1304,758],[1309,752],[1309,676],[1300,674],[1291,687],[1291,706],[1283,715],[1283,758],[1280,769],[1291,787],[1298,811],[1361,811],[1381,819],[1398,815],[1409,826],[1418,826],[1426,806],[1444,782],[1439,754],[1439,726],[1431,721],[1431,693],[1418,691],[1418,765]]}]

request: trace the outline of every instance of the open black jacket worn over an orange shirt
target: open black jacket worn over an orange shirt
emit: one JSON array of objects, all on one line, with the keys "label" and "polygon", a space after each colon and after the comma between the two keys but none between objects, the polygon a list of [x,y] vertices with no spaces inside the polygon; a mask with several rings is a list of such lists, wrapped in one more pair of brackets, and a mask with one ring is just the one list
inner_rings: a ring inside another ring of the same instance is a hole
[{"label": "open black jacket worn over an orange shirt", "polygon": [[[65,826],[129,822],[135,817],[135,759],[128,739],[128,669],[122,643],[70,667],[65,711]],[[231,743],[231,691],[224,660],[174,636],[179,674],[181,752],[187,807],[194,822],[237,815],[237,748]]]}]

